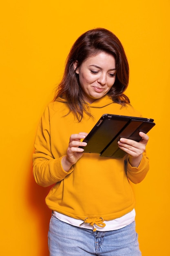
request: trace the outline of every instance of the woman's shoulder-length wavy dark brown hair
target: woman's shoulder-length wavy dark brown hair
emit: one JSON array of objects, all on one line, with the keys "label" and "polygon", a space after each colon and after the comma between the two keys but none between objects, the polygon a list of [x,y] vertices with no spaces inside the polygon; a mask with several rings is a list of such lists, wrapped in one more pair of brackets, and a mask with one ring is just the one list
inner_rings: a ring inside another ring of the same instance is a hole
[{"label": "woman's shoulder-length wavy dark brown hair", "polygon": [[54,101],[57,97],[66,98],[70,112],[73,112],[78,121],[82,120],[84,111],[89,116],[91,113],[84,101],[84,93],[79,85],[79,76],[76,74],[73,64],[77,61],[78,68],[86,58],[95,56],[99,52],[112,54],[116,61],[115,83],[107,94],[115,103],[121,105],[130,103],[124,94],[129,82],[129,65],[124,47],[111,31],[104,28],[91,29],[79,36],[73,44],[66,60],[63,79],[58,85],[54,97]]}]

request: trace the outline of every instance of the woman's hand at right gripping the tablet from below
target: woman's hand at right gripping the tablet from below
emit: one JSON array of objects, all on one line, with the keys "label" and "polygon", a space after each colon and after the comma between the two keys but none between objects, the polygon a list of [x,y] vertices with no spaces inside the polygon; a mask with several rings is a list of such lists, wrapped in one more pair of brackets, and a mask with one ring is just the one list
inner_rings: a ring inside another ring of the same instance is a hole
[{"label": "woman's hand at right gripping the tablet from below", "polygon": [[125,138],[121,138],[118,141],[119,148],[129,155],[129,162],[134,167],[139,166],[149,139],[148,135],[144,132],[139,132],[139,135],[141,136],[141,140],[139,142]]}]

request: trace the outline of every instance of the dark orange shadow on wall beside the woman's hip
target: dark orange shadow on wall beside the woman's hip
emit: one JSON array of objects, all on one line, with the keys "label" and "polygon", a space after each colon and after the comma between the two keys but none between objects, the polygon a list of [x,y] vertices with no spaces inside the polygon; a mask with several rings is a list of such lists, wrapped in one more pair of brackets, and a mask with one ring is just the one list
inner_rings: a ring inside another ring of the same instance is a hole
[{"label": "dark orange shadow on wall beside the woman's hip", "polygon": [[27,187],[27,198],[31,211],[35,213],[38,223],[38,240],[39,240],[39,252],[38,255],[47,256],[49,255],[48,249],[48,231],[49,221],[51,218],[51,210],[46,206],[45,198],[49,193],[51,187],[42,187],[36,184],[33,178],[32,163],[29,172],[28,187]]}]

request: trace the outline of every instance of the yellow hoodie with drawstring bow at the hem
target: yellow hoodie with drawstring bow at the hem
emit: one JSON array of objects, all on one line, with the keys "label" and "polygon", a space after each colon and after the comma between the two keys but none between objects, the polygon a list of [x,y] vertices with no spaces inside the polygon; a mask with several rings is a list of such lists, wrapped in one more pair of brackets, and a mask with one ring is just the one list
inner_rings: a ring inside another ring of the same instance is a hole
[{"label": "yellow hoodie with drawstring bow at the hem", "polygon": [[[132,211],[134,195],[129,183],[141,182],[149,170],[144,153],[140,165],[130,166],[125,158],[100,157],[84,153],[67,173],[61,159],[66,155],[71,134],[90,132],[103,114],[141,116],[130,104],[121,106],[107,95],[89,104],[89,118],[84,114],[80,123],[64,99],[49,103],[38,126],[33,154],[33,175],[41,186],[52,186],[46,196],[47,206],[57,212],[84,222],[103,225]],[[68,115],[66,115],[68,114]],[[66,115],[66,116],[65,116]]]}]

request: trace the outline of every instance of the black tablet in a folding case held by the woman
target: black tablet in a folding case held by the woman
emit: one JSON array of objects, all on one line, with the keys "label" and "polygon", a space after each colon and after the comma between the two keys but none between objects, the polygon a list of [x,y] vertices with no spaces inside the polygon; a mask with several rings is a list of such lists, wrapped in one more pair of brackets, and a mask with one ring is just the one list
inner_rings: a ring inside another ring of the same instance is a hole
[{"label": "black tablet in a folding case held by the woman", "polygon": [[155,123],[154,119],[104,114],[83,140],[87,142],[84,153],[98,153],[101,157],[120,158],[126,152],[118,147],[120,138],[140,141],[139,132],[147,133]]}]

